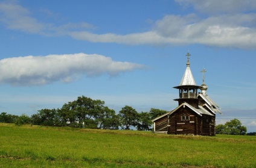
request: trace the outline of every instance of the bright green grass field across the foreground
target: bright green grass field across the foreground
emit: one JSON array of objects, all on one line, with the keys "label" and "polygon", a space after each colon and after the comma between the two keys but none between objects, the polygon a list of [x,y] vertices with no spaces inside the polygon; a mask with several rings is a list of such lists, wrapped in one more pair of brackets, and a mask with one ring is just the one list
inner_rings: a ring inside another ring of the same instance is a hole
[{"label": "bright green grass field across the foreground", "polygon": [[0,167],[256,167],[256,136],[0,123]]}]

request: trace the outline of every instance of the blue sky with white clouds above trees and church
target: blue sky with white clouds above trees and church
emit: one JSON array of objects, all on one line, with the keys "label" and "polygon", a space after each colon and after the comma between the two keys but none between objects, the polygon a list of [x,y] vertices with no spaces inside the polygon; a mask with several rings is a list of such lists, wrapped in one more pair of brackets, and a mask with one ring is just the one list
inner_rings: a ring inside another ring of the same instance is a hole
[{"label": "blue sky with white clouds above trees and church", "polygon": [[226,1],[0,1],[0,108],[27,115],[78,96],[117,113],[173,110],[189,51],[196,84],[256,131],[256,4]]}]

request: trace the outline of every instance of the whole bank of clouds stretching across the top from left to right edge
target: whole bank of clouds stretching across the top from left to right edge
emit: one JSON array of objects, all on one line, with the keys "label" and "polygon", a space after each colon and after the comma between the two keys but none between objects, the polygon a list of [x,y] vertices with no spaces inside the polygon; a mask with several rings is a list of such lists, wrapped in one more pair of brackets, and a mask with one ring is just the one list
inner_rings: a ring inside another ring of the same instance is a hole
[{"label": "whole bank of clouds stretching across the top from left to right edge", "polygon": [[[9,29],[43,36],[69,36],[94,43],[129,45],[201,44],[217,47],[256,49],[256,3],[254,0],[197,1],[176,0],[194,13],[165,15],[153,23],[150,31],[132,34],[93,33],[89,23],[56,26],[34,19],[18,4],[0,3],[0,21]],[[202,13],[205,13],[203,15]]]}]

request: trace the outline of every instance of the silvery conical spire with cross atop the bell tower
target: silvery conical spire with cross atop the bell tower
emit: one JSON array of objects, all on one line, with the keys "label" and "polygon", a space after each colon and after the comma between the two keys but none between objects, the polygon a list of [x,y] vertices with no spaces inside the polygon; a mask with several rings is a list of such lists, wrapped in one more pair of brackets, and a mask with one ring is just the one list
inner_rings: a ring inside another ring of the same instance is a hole
[{"label": "silvery conical spire with cross atop the bell tower", "polygon": [[196,82],[194,81],[194,77],[192,75],[192,72],[190,70],[190,53],[187,53],[187,68],[185,70],[185,73],[181,79],[181,83],[179,84],[179,86],[186,86],[186,85],[193,85],[196,86]]}]

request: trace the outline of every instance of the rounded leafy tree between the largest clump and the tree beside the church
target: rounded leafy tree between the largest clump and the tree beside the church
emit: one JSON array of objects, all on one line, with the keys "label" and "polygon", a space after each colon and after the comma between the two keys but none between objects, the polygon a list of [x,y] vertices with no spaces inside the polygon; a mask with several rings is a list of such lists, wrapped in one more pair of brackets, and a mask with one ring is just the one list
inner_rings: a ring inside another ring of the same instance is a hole
[{"label": "rounded leafy tree between the largest clump and the tree beside the church", "polygon": [[137,111],[126,105],[120,111],[118,116],[120,117],[120,125],[122,129],[130,129],[130,126],[136,126],[138,122]]}]

